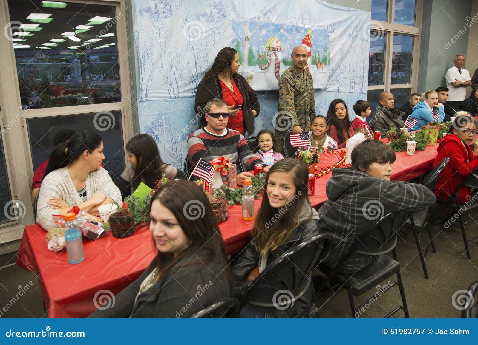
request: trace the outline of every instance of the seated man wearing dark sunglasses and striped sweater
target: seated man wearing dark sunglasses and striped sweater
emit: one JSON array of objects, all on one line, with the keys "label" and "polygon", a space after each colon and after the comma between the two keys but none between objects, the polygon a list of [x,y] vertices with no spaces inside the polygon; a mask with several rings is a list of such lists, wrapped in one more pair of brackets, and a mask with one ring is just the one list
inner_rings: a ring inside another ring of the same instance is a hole
[{"label": "seated man wearing dark sunglasses and striped sweater", "polygon": [[200,158],[209,162],[214,158],[226,156],[231,163],[237,165],[240,173],[236,181],[239,186],[242,186],[246,178],[253,176],[244,171],[254,170],[256,164],[261,164],[264,172],[267,172],[269,166],[252,153],[244,136],[238,131],[227,128],[228,116],[226,102],[219,98],[210,100],[206,104],[207,125],[188,137],[187,154],[193,166],[196,166]]}]

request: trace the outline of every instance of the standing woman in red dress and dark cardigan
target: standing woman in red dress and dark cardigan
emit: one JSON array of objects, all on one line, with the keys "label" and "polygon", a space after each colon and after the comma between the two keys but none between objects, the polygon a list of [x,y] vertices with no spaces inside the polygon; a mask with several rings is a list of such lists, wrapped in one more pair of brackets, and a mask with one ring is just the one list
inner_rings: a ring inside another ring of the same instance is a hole
[{"label": "standing woman in red dress and dark cardigan", "polygon": [[209,71],[197,86],[195,110],[201,115],[199,125],[204,127],[204,109],[213,98],[221,98],[228,104],[228,128],[243,136],[254,132],[254,118],[259,115],[259,100],[246,79],[238,73],[239,54],[234,48],[221,49]]}]

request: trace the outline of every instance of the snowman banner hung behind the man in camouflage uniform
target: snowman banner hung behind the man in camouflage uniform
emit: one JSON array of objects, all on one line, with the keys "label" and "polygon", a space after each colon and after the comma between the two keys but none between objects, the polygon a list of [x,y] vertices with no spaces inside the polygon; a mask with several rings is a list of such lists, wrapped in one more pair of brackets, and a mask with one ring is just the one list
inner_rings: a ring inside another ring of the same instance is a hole
[{"label": "snowman banner hung behind the man in camouflage uniform", "polygon": [[[247,27],[256,29],[251,34],[245,30]],[[292,66],[293,48],[303,45],[308,52],[305,69],[312,74],[314,88],[324,90],[331,63],[327,28],[287,25],[286,29],[276,23],[233,21],[232,46],[239,52],[242,64],[239,73],[256,91],[278,90],[280,76]]]}]

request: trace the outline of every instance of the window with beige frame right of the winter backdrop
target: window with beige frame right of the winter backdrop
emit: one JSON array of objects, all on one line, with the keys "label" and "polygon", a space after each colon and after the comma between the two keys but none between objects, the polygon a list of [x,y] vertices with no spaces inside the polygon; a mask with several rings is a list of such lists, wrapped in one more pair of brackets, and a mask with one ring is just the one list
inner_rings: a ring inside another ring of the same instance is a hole
[{"label": "window with beige frame right of the winter backdrop", "polygon": [[[378,106],[380,92],[395,96],[395,107],[417,92],[420,0],[372,0],[369,93],[370,105]],[[416,19],[415,19],[416,17]]]}]

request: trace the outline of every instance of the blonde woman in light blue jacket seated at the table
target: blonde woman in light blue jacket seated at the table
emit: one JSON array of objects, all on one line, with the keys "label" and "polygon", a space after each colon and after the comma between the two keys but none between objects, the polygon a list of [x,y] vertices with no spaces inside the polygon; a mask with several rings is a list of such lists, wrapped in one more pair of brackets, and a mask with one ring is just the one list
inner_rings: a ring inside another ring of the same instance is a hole
[{"label": "blonde woman in light blue jacket seated at the table", "polygon": [[422,129],[422,126],[429,122],[443,122],[444,117],[445,107],[438,102],[438,94],[435,90],[428,90],[424,94],[424,102],[420,102],[413,107],[413,113],[405,122],[405,127],[416,131]]}]

